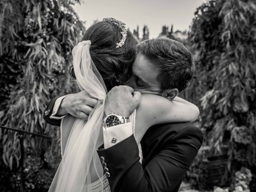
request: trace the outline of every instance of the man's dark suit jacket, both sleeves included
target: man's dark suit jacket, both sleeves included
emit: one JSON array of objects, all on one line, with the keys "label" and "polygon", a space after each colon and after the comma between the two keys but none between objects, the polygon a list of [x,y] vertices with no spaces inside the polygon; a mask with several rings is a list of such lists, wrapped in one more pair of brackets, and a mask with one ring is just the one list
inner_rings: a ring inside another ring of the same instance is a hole
[{"label": "man's dark suit jacket, both sleeves included", "polygon": [[[60,125],[60,120],[49,118],[55,100],[46,107],[49,112],[44,119]],[[178,192],[202,141],[201,130],[191,123],[159,124],[142,138],[142,164],[134,136],[99,149],[98,155],[104,157],[112,192]]]}]

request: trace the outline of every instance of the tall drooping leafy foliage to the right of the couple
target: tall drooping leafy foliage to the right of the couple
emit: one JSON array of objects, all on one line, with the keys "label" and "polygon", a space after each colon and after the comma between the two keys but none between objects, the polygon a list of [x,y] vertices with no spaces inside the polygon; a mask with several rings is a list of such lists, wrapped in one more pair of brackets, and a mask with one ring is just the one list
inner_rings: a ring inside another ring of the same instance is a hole
[{"label": "tall drooping leafy foliage to the right of the couple", "polygon": [[256,1],[209,0],[197,9],[189,40],[206,142],[215,152],[229,145],[230,171],[256,166]]}]

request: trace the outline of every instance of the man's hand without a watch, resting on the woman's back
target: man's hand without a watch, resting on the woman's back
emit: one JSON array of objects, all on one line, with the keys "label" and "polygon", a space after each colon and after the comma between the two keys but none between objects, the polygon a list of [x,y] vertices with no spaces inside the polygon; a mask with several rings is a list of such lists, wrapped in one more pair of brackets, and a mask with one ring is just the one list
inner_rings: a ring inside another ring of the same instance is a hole
[{"label": "man's hand without a watch, resting on the woman's back", "polygon": [[89,114],[97,103],[98,100],[91,98],[85,90],[69,94],[62,100],[56,116],[63,116],[69,113],[74,117],[88,120]]}]

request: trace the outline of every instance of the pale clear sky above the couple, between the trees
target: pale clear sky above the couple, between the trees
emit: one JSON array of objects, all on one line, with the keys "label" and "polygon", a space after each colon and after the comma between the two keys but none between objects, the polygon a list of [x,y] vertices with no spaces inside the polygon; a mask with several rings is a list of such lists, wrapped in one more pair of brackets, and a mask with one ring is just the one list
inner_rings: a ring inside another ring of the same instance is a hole
[{"label": "pale clear sky above the couple, between the trees", "polygon": [[80,20],[86,22],[86,28],[94,20],[114,17],[124,23],[133,32],[139,26],[148,26],[149,38],[157,38],[162,26],[171,26],[173,30],[188,30],[194,18],[194,12],[206,0],[81,0],[74,10]]}]

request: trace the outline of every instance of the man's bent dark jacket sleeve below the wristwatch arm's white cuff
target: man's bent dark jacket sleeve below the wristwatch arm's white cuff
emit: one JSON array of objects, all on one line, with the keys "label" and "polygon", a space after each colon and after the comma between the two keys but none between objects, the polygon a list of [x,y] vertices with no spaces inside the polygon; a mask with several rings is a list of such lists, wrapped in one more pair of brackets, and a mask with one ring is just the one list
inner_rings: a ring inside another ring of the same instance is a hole
[{"label": "man's bent dark jacket sleeve below the wristwatch arm's white cuff", "polygon": [[106,163],[112,192],[178,191],[182,178],[202,145],[202,132],[188,126],[178,132],[143,169],[134,136],[98,154]]}]

